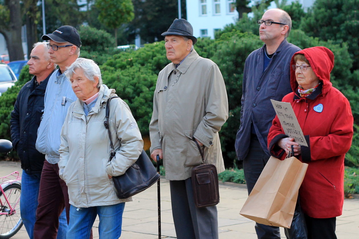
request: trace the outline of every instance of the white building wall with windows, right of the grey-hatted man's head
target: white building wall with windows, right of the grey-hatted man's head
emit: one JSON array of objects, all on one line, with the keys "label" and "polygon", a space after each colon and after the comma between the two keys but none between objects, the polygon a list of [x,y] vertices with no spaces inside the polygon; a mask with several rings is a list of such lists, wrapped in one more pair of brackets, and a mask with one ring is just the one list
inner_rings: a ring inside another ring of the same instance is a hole
[{"label": "white building wall with windows, right of the grey-hatted man's head", "polygon": [[187,20],[195,37],[214,38],[214,33],[238,19],[236,0],[186,0]]}]

